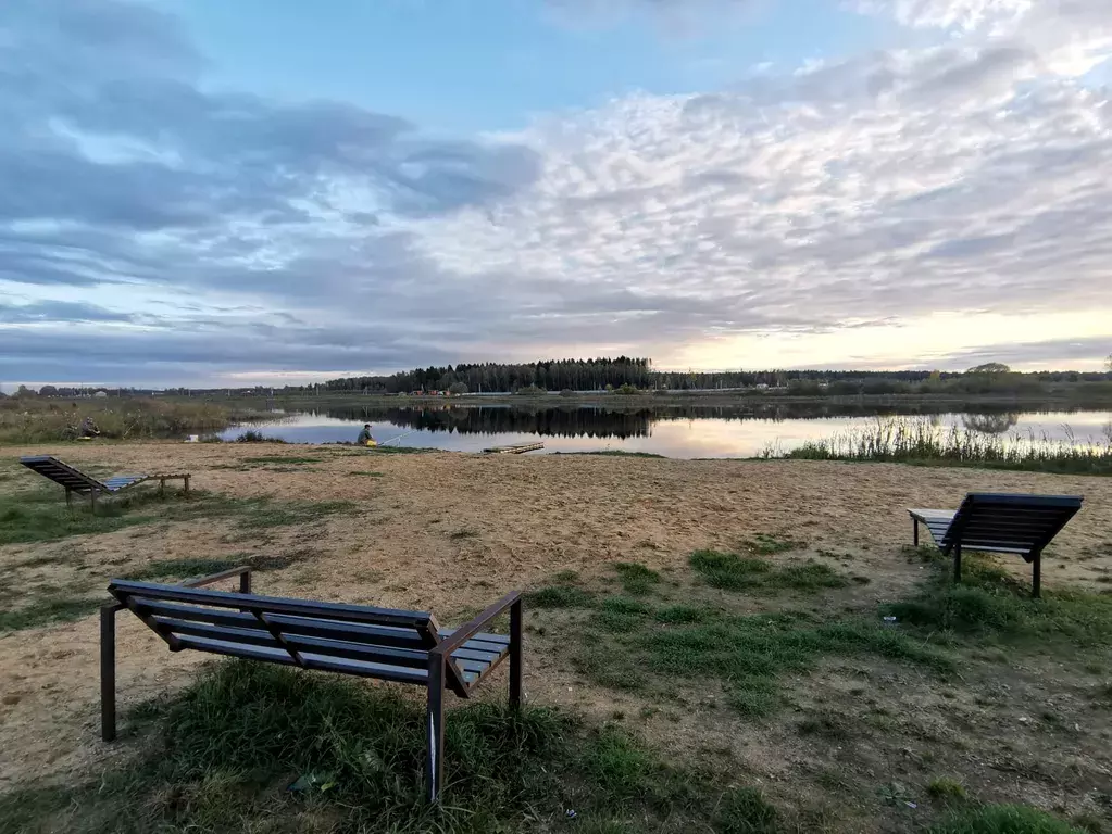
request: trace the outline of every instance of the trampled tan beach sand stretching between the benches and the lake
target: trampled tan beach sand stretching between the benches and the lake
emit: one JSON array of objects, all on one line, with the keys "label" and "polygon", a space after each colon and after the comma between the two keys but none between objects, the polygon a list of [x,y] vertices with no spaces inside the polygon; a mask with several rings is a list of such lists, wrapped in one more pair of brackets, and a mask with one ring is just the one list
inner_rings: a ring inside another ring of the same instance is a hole
[{"label": "trampled tan beach sand stretching between the benches and the lake", "polygon": [[[1112,480],[1100,478],[806,461],[371,455],[344,448],[137,443],[4,449],[0,472],[9,478],[0,482],[0,503],[2,490],[10,494],[34,478],[14,459],[46,451],[116,471],[188,471],[196,489],[234,496],[346,500],[356,509],[255,537],[231,518],[7,545],[0,572],[9,581],[18,575],[64,585],[80,577],[96,586],[150,561],[295,553],[296,564],[258,574],[256,590],[430,610],[453,623],[560,570],[589,579],[615,561],[681,567],[694,550],[728,550],[767,533],[804,542],[803,555],[852,553],[854,572],[873,580],[854,593],[882,600],[922,577],[900,552],[911,541],[905,508],[953,508],[969,491],[1083,494],[1083,511],[1048,554],[1044,586],[1108,587],[1112,575]],[[322,461],[224,469],[258,455]],[[366,472],[381,475],[354,474]],[[59,554],[60,563],[13,573],[28,560]],[[1020,560],[1011,566],[1026,575]],[[121,711],[185,685],[208,660],[169,653],[129,616],[120,617],[118,642]],[[629,701],[575,681],[540,653],[527,653],[526,691],[539,702],[596,711]],[[661,732],[683,743],[675,729]],[[128,744],[105,745],[98,733],[97,617],[0,635],[0,790],[40,776],[78,778],[127,755]],[[757,747],[749,751],[753,762],[762,761]]]}]

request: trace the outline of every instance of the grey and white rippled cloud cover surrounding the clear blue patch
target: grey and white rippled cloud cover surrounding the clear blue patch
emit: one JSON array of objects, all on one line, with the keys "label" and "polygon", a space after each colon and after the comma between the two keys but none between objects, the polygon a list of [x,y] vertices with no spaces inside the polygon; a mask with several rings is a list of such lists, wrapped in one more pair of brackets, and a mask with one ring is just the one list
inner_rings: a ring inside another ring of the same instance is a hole
[{"label": "grey and white rippled cloud cover surrounding the clear blue patch", "polygon": [[[212,92],[153,7],[19,0],[0,22],[0,293],[20,299],[0,305],[0,375],[72,379],[73,355],[145,384],[666,365],[707,340],[848,344],[937,311],[1112,320],[1112,112],[1081,78],[1098,6],[886,3],[944,31],[469,141]],[[1036,335],[1048,362],[1073,356]],[[845,355],[902,355],[873,350]]]}]

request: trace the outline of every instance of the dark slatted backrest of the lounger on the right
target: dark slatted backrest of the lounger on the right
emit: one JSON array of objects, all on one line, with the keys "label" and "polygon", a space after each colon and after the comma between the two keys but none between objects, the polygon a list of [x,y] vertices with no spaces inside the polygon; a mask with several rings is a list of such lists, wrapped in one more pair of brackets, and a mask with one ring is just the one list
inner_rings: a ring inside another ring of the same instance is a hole
[{"label": "dark slatted backrest of the lounger on the right", "polygon": [[1014,551],[1026,561],[1042,551],[1081,509],[1080,495],[975,493],[965,496],[942,540],[976,550]]}]

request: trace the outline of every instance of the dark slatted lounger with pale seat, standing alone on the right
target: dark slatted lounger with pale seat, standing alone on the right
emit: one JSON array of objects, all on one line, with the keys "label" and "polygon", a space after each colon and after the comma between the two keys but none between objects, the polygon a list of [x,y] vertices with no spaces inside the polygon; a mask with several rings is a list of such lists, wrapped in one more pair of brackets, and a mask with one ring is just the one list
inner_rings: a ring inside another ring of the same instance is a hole
[{"label": "dark slatted lounger with pale seat, standing alone on the right", "polygon": [[954,557],[954,581],[962,581],[962,550],[1023,556],[1031,567],[1031,595],[1042,592],[1042,552],[1081,509],[1080,495],[1023,495],[971,492],[954,510],[909,510],[919,546],[919,525]]}]

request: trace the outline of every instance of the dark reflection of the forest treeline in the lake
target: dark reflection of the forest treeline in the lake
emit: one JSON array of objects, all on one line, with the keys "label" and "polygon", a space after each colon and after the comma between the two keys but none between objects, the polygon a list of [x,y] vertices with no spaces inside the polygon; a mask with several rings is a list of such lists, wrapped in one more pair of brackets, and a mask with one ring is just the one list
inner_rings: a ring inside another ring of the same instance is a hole
[{"label": "dark reflection of the forest treeline in the lake", "polygon": [[[931,415],[962,410],[954,403],[940,405],[862,406],[840,403],[753,403],[745,405],[657,405],[622,403],[616,406],[553,404],[523,405],[439,405],[428,408],[373,408],[367,405],[332,406],[330,418],[359,422],[388,421],[399,426],[431,432],[458,434],[538,434],[547,436],[645,438],[653,425],[673,420],[821,420],[846,416]],[[982,409],[982,411],[984,411]],[[984,425],[1015,424],[1016,415],[977,413],[969,420],[985,421]],[[993,422],[994,420],[999,422]],[[1011,421],[1011,422],[1007,422]],[[1006,424],[1005,424],[1006,423]],[[970,428],[974,428],[966,423]],[[986,431],[987,429],[976,429]]]}]

